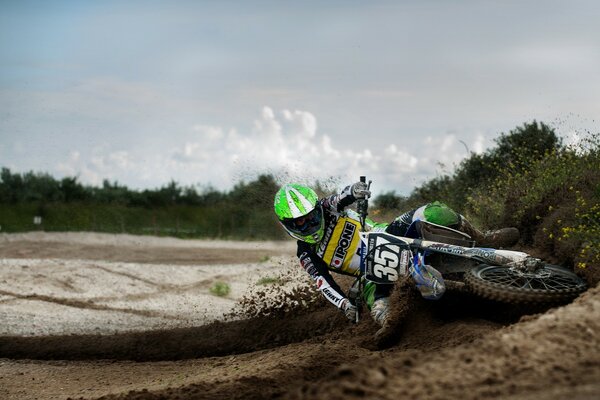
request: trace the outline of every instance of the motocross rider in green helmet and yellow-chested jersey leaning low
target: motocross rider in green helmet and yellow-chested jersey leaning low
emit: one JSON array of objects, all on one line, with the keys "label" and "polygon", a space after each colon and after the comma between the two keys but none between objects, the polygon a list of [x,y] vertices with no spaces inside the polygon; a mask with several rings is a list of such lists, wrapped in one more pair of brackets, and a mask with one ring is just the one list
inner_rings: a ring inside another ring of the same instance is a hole
[{"label": "motocross rider in green helmet and yellow-chested jersey leaning low", "polygon": [[[330,271],[355,277],[360,275],[361,246],[358,233],[363,227],[358,213],[346,207],[370,195],[364,182],[347,186],[341,193],[323,199],[319,199],[311,188],[299,184],[285,185],[275,195],[275,214],[287,233],[298,240],[300,264],[314,279],[323,296],[351,321],[356,320],[357,308],[335,282]],[[390,224],[367,219],[364,229],[402,236],[416,219],[454,227],[470,234],[475,240],[488,243],[507,239],[507,234],[499,234],[499,231],[489,234],[479,232],[464,217],[439,202],[406,212]],[[514,232],[509,232],[508,236],[511,234]],[[441,275],[431,266],[423,267],[419,273],[411,271],[417,289],[425,298],[441,297],[445,290]],[[384,325],[388,317],[392,287],[389,284],[367,282],[364,288],[367,307],[372,318],[380,325]]]}]

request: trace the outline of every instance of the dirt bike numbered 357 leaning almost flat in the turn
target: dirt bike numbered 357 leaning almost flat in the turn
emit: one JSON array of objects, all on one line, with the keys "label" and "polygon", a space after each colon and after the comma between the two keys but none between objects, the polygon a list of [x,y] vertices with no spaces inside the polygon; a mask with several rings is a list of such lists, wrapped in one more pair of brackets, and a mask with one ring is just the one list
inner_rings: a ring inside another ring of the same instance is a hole
[{"label": "dirt bike numbered 357 leaning almost flat in the turn", "polygon": [[[368,198],[359,200],[362,226],[367,209]],[[447,290],[512,304],[564,303],[587,289],[585,281],[566,268],[520,251],[476,247],[466,233],[427,221],[413,222],[405,236],[364,231],[360,235],[364,279],[351,289],[358,293],[365,279],[395,283],[425,265],[441,274]]]}]

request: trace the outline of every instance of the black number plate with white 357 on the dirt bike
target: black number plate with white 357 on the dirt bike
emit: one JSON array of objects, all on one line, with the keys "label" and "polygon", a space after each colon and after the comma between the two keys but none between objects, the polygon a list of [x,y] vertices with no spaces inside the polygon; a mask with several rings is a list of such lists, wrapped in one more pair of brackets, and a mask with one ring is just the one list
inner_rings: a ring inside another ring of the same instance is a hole
[{"label": "black number plate with white 357 on the dirt bike", "polygon": [[394,283],[408,274],[412,259],[409,245],[387,233],[370,233],[365,256],[365,278],[375,283]]}]

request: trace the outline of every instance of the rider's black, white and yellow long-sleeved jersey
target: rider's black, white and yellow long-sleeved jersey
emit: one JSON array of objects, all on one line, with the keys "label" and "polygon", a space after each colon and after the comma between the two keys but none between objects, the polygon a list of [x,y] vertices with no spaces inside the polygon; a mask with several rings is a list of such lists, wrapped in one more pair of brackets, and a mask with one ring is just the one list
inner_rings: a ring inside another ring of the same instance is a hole
[{"label": "rider's black, white and yellow long-sleeved jersey", "polygon": [[[346,297],[329,272],[360,274],[359,232],[362,226],[358,213],[344,210],[355,201],[349,186],[340,194],[319,200],[325,220],[323,239],[316,244],[298,241],[300,264],[315,280],[318,290],[337,307]],[[366,225],[366,230],[383,230],[386,226],[372,221],[367,221]]]}]

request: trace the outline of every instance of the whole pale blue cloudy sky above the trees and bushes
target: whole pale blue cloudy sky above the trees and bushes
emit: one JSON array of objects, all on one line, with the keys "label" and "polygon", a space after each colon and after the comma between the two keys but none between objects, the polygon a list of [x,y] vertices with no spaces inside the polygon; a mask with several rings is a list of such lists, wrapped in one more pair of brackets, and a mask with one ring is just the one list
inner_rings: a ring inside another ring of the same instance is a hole
[{"label": "whole pale blue cloudy sky above the trees and bushes", "polygon": [[596,129],[598,21],[596,1],[1,1],[0,165],[408,193],[525,122]]}]

